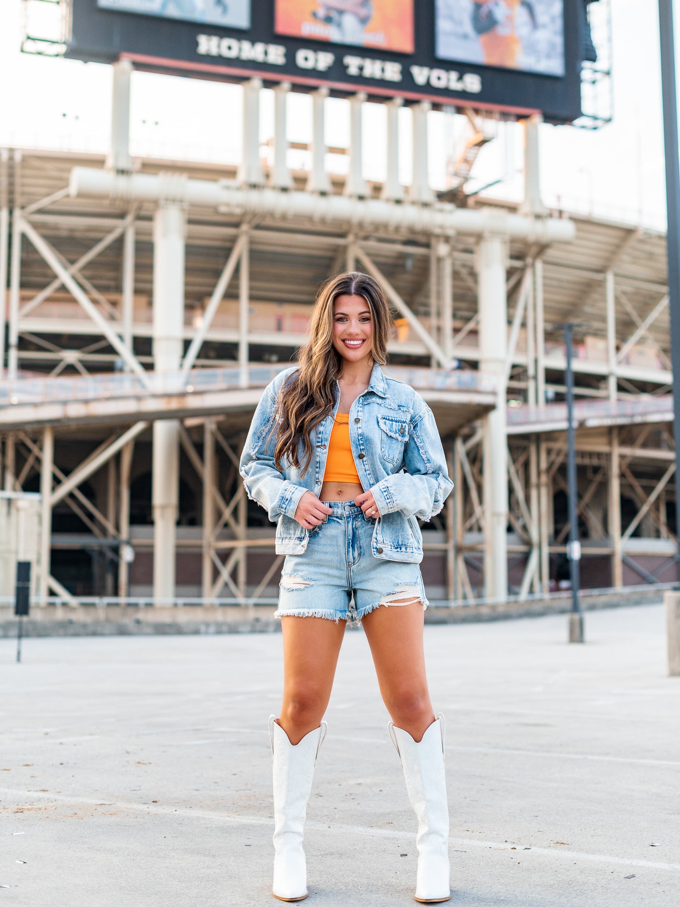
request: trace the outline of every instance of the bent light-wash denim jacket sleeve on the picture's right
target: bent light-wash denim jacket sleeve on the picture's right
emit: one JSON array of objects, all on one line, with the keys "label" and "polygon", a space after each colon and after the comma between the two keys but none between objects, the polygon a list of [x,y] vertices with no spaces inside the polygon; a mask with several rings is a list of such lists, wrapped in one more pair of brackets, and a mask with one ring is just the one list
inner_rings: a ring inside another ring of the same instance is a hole
[{"label": "bent light-wash denim jacket sleeve on the picture's right", "polygon": [[411,423],[403,466],[404,473],[388,475],[371,489],[378,512],[384,516],[399,511],[407,518],[431,520],[442,510],[453,483],[432,410],[424,402]]}]

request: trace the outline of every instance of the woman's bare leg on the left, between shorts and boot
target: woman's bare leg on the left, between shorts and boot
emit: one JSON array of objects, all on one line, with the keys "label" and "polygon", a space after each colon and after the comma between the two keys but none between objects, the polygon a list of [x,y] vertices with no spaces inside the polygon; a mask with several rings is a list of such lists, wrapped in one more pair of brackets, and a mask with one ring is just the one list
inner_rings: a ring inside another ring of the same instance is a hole
[{"label": "woman's bare leg on the left, between shorts and boot", "polygon": [[296,746],[319,727],[331,697],[345,620],[281,618],[284,696],[278,724]]}]

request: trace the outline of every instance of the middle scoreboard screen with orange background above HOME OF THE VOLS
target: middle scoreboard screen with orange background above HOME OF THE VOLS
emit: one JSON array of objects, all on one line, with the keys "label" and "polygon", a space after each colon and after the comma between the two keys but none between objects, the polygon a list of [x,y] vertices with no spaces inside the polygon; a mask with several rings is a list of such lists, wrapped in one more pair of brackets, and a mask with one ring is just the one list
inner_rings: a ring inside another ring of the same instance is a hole
[{"label": "middle scoreboard screen with orange background above HOME OF THE VOLS", "polygon": [[277,34],[413,54],[413,0],[275,0]]}]

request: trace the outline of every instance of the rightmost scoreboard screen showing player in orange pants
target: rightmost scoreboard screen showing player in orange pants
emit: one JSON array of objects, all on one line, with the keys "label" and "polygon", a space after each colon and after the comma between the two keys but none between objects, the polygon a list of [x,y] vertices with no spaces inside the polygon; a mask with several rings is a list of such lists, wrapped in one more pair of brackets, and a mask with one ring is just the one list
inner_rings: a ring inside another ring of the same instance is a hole
[{"label": "rightmost scoreboard screen showing player in orange pants", "polygon": [[562,76],[564,0],[436,0],[443,60]]}]

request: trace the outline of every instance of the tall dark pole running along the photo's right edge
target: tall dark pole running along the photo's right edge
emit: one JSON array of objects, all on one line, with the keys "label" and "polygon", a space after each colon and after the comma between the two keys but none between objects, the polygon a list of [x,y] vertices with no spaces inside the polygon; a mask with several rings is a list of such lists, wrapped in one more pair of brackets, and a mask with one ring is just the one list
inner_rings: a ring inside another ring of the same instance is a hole
[{"label": "tall dark pole running along the photo's right edge", "polygon": [[[665,197],[668,210],[668,307],[671,316],[671,360],[676,418],[675,488],[680,489],[680,157],[677,141],[677,87],[673,0],[659,0],[661,87],[664,100]],[[680,532],[680,493],[675,493],[675,532]]]}]

